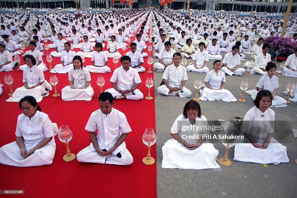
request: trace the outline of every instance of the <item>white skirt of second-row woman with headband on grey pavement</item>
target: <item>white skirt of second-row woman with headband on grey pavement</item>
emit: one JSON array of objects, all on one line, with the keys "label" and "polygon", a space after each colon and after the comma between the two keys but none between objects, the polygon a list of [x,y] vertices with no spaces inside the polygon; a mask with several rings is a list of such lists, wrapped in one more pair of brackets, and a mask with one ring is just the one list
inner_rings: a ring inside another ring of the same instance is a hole
[{"label": "white skirt of second-row woman with headband on grey pavement", "polygon": [[237,99],[231,94],[230,91],[227,89],[221,89],[221,90],[214,90],[205,87],[203,90],[200,91],[202,96],[199,97],[200,100],[222,100],[225,102],[236,102]]}]

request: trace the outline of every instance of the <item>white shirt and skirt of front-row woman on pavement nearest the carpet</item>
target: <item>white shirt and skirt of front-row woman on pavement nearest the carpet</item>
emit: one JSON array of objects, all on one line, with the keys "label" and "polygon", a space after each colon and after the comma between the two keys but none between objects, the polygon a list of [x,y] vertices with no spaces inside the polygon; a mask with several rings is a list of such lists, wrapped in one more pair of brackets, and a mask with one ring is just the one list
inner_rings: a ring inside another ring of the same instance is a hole
[{"label": "white shirt and skirt of front-row woman on pavement nearest the carpet", "polygon": [[[182,124],[181,124],[182,123]],[[195,125],[208,126],[206,118],[201,115],[196,117]],[[189,118],[184,118],[181,114],[176,118],[173,123],[170,133],[178,134],[181,138],[185,139],[187,136],[207,134],[206,130],[184,131],[182,127],[190,126]],[[188,143],[197,143],[199,139],[186,139]],[[170,139],[164,143],[162,147],[163,160],[162,168],[180,168],[180,169],[209,169],[219,168],[216,162],[216,157],[219,151],[214,148],[214,145],[204,142],[197,148],[189,150],[184,145],[175,139]]]}]

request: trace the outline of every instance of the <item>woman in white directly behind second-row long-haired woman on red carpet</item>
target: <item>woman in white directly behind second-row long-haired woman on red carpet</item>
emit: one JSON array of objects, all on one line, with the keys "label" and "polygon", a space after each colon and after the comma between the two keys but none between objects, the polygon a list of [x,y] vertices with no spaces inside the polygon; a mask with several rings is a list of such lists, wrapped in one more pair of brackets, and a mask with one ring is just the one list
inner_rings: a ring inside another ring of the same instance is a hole
[{"label": "woman in white directly behind second-row long-haired woman on red carpet", "polygon": [[75,52],[70,50],[70,43],[64,43],[65,50],[61,55],[61,64],[56,64],[56,66],[50,70],[50,73],[59,73],[66,74],[73,67],[73,57],[75,56]]}]

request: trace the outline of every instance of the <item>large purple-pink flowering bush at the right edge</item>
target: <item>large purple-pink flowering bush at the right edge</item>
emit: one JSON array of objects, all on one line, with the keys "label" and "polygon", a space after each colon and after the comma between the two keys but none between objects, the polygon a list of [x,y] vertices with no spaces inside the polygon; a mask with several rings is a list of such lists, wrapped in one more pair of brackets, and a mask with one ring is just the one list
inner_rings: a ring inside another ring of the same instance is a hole
[{"label": "large purple-pink flowering bush at the right edge", "polygon": [[281,54],[293,54],[294,49],[297,47],[296,42],[292,42],[290,37],[267,37],[263,44],[268,44],[272,52],[279,50]]}]

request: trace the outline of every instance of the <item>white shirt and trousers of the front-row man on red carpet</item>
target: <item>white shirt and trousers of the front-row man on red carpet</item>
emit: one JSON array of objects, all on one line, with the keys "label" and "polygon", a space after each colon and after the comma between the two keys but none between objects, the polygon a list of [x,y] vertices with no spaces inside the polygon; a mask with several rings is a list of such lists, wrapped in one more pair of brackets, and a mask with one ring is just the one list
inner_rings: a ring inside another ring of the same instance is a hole
[{"label": "white shirt and trousers of the front-row man on red carpet", "polygon": [[[101,110],[94,111],[85,129],[89,132],[96,132],[99,148],[106,149],[107,151],[112,148],[122,133],[131,132],[131,128],[124,113],[112,108],[111,112],[107,115],[102,113]],[[120,153],[121,158],[114,156]],[[117,165],[129,165],[133,162],[131,153],[126,148],[126,143],[123,142],[114,151],[113,156],[100,156],[93,143],[87,146],[77,154],[79,162],[91,162],[100,164],[117,164]]]}]

